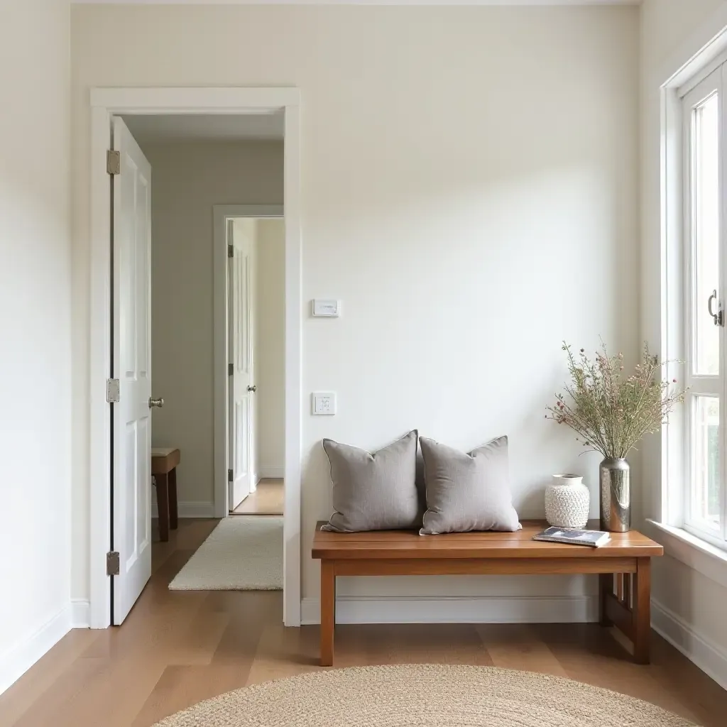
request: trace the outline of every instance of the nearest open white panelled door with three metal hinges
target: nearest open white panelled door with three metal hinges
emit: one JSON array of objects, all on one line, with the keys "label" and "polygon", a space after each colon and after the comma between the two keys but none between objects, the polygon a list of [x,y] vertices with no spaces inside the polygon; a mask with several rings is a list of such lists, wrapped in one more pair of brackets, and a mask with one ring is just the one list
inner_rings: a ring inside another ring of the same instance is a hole
[{"label": "nearest open white panelled door with three metal hinges", "polygon": [[120,173],[113,177],[112,623],[121,624],[151,576],[151,167],[113,119]]}]

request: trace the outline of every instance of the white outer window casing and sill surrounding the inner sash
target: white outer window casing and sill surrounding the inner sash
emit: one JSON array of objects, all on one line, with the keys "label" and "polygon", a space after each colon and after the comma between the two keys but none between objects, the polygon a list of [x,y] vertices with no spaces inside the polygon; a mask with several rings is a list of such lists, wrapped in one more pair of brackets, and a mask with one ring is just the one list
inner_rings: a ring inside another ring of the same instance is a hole
[{"label": "white outer window casing and sill surrounding the inner sash", "polygon": [[[659,351],[662,361],[686,358],[683,308],[684,219],[683,219],[683,123],[681,99],[727,61],[727,4],[723,4],[704,23],[684,39],[673,52],[654,65],[643,68],[643,93],[659,95],[659,166],[653,169],[648,130],[655,121],[646,105],[644,138],[644,181],[646,189],[658,174],[659,217],[654,230],[651,220],[654,199],[645,196],[645,265],[642,268],[644,297],[642,336]],[[656,148],[653,149],[656,153]],[[654,158],[656,161],[656,158]],[[655,181],[655,180],[654,180]],[[652,232],[654,235],[652,235]],[[656,265],[656,270],[654,269]],[[656,292],[658,291],[658,294]],[[656,294],[656,295],[655,295]],[[685,367],[667,366],[665,374],[679,382],[686,380]],[[658,441],[643,443],[643,507],[646,531],[664,545],[664,552],[704,576],[727,587],[727,550],[684,528],[685,406],[677,406],[662,427]],[[726,417],[727,419],[727,417]]]}]

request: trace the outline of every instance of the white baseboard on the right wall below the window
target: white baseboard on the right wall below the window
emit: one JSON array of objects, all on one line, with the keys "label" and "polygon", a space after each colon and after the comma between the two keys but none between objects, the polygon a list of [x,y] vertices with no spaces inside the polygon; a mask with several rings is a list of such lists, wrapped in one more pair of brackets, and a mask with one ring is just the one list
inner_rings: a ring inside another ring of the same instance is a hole
[{"label": "white baseboard on the right wall below the window", "polygon": [[727,689],[727,651],[699,633],[681,616],[651,599],[651,627],[694,662],[707,676]]}]

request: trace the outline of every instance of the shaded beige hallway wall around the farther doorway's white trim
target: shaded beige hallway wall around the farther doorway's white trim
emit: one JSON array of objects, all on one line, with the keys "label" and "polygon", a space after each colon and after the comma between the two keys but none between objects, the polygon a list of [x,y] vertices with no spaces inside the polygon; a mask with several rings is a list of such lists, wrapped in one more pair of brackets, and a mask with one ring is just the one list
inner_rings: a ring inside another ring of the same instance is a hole
[{"label": "shaded beige hallway wall around the farther doorway's white trim", "polygon": [[[282,142],[145,145],[152,167],[154,446],[178,446],[182,512],[212,513],[212,207],[282,204]],[[206,508],[206,510],[205,510]]]}]

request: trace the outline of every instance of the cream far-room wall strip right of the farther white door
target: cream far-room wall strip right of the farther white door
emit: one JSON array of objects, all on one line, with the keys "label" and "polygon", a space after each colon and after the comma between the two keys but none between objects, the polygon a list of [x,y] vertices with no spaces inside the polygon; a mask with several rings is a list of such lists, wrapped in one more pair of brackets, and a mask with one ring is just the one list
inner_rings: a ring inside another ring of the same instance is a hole
[{"label": "cream far-room wall strip right of the farther white door", "polygon": [[285,461],[285,223],[257,220],[255,382],[257,473],[282,477]]}]

